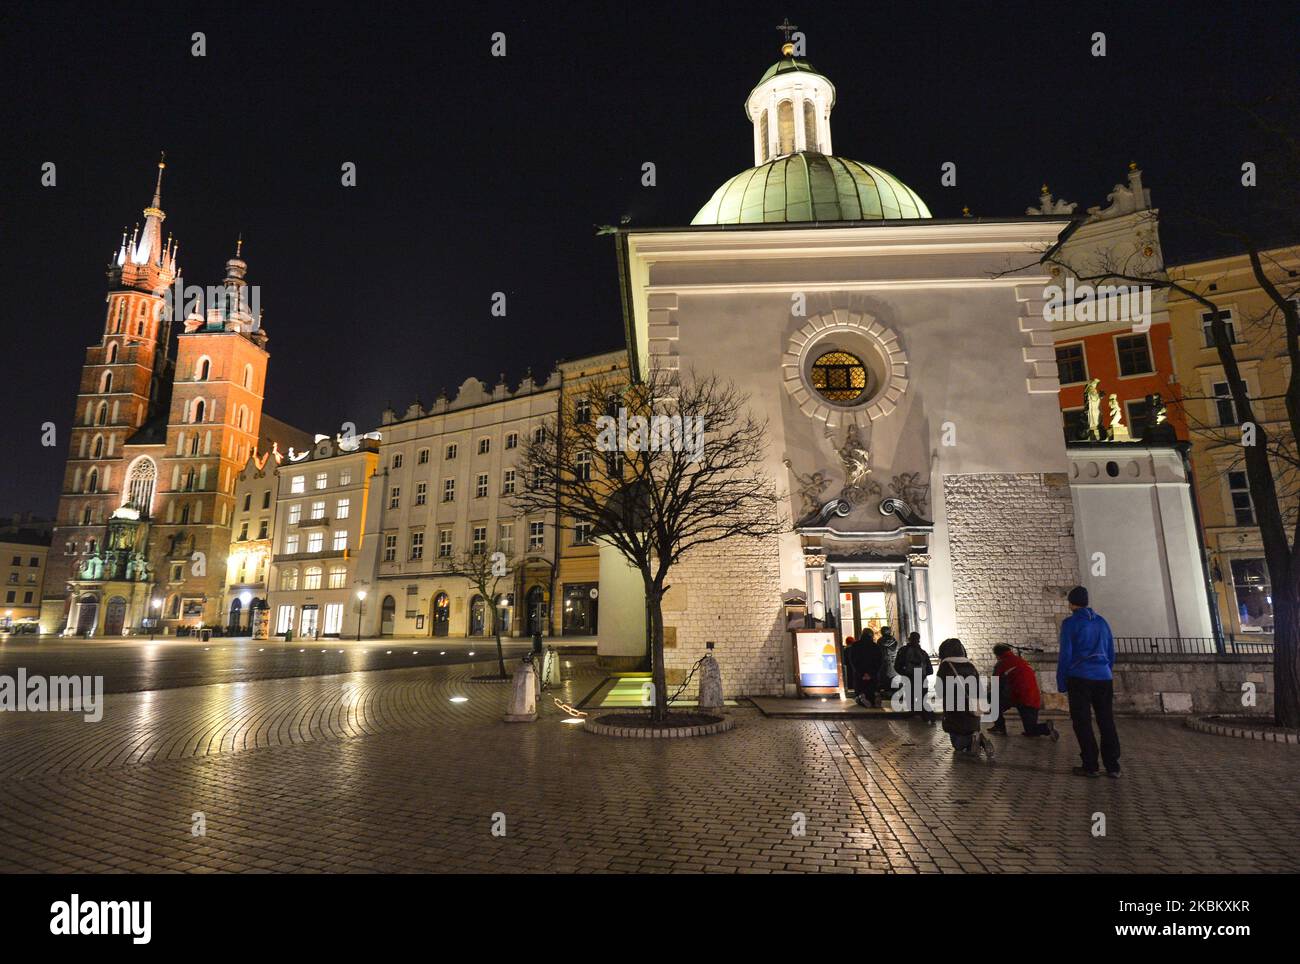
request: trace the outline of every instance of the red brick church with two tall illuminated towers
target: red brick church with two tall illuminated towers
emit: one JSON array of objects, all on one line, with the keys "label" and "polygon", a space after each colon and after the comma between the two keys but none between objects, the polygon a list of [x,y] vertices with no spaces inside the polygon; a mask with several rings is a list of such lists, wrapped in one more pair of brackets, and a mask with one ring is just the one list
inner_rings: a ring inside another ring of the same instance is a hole
[{"label": "red brick church with two tall illuminated towers", "polygon": [[[237,248],[226,278],[185,292],[162,236],[162,170],[144,225],[108,269],[86,349],[42,600],[44,631],[176,631],[220,621],[235,476],[256,447],[266,335]],[[191,300],[191,295],[198,295]]]}]

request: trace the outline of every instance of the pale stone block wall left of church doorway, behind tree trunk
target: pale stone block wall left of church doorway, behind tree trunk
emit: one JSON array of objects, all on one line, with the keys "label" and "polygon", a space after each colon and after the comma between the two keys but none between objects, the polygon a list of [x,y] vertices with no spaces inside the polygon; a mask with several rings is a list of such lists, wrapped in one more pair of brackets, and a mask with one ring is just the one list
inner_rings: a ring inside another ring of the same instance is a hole
[{"label": "pale stone block wall left of church doorway, behind tree trunk", "polygon": [[[771,539],[729,539],[688,552],[668,576],[664,650],[673,689],[714,641],[727,696],[779,696],[785,682],[780,544]],[[676,681],[676,682],[673,682]],[[686,692],[696,691],[692,681]]]}]

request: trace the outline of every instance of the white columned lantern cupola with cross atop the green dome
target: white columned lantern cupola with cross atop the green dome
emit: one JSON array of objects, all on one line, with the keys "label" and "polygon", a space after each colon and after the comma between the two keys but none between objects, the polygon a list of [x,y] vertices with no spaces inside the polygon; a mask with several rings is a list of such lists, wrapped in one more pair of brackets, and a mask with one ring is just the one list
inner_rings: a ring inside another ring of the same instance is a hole
[{"label": "white columned lantern cupola with cross atop the green dome", "polygon": [[754,125],[754,166],[809,152],[829,155],[835,84],[794,53],[786,40],[745,101]]}]

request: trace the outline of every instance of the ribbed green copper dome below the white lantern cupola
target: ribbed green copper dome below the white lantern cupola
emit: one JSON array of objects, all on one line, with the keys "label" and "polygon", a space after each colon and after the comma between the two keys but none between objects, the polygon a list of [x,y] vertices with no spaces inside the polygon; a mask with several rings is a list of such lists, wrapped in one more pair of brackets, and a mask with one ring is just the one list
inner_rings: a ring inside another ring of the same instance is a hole
[{"label": "ribbed green copper dome below the white lantern cupola", "polygon": [[690,223],[893,221],[930,216],[926,203],[893,174],[844,157],[801,151],[741,171],[718,188]]}]

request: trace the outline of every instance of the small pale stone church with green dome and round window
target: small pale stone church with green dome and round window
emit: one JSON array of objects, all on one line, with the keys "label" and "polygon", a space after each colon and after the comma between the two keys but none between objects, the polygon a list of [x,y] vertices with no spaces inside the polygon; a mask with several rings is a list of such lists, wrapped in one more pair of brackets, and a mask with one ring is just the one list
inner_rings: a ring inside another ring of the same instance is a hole
[{"label": "small pale stone church with green dome and round window", "polygon": [[[794,695],[797,608],[841,637],[889,626],[935,652],[956,635],[984,659],[997,642],[1054,641],[1079,582],[1115,604],[1117,634],[1209,635],[1178,455],[1118,429],[1102,439],[1101,420],[1097,443],[1127,439],[1123,457],[1067,453],[1039,260],[1072,218],[933,218],[893,174],[832,152],[835,105],[786,43],[744,101],[754,166],[686,227],[619,233],[634,373],[693,369],[748,391],[793,522],[675,569],[670,670],[714,642],[728,692]],[[1109,576],[1089,574],[1106,551]],[[1191,574],[1178,600],[1171,568]],[[610,657],[642,646],[599,643]]]}]

